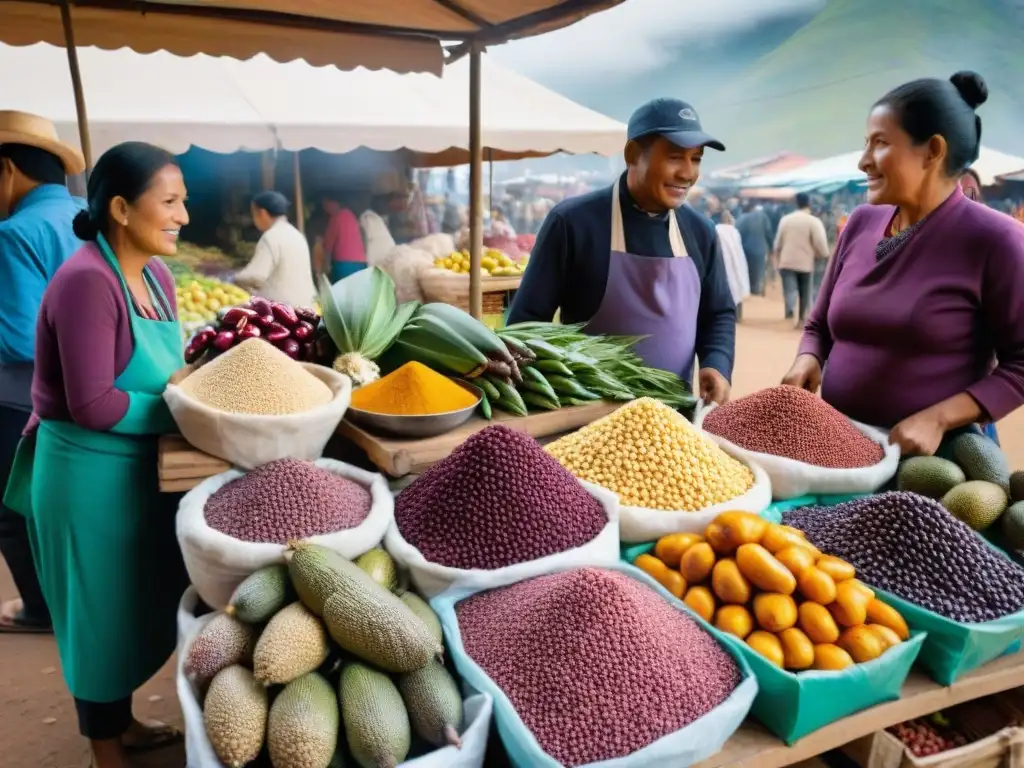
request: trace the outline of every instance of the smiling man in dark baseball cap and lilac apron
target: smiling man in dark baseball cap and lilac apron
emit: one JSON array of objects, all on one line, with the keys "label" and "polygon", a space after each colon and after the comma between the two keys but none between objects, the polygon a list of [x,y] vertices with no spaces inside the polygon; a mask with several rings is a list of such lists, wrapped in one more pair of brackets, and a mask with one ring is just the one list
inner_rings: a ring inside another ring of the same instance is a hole
[{"label": "smiling man in dark baseball cap and lilac apron", "polygon": [[715,225],[686,204],[706,148],[722,152],[685,101],[656,98],[633,113],[626,172],[609,187],[562,201],[544,220],[508,322],[584,323],[595,334],[643,336],[652,367],[724,402],[736,307]]}]

